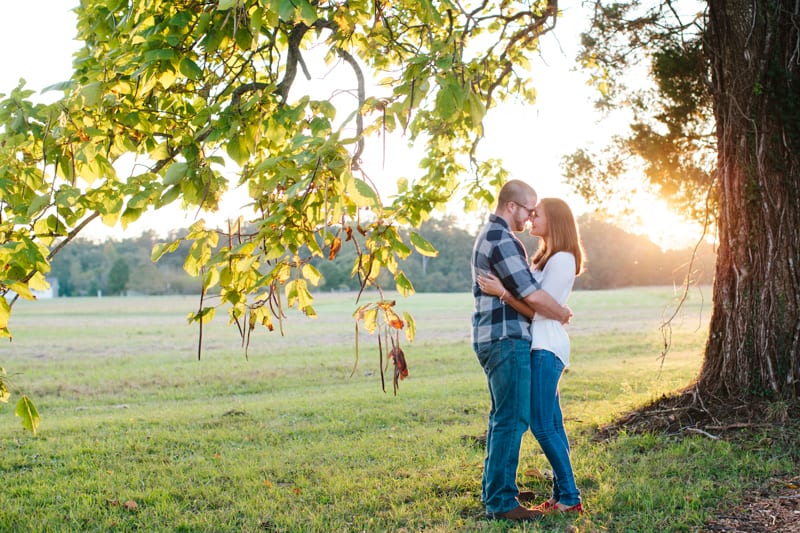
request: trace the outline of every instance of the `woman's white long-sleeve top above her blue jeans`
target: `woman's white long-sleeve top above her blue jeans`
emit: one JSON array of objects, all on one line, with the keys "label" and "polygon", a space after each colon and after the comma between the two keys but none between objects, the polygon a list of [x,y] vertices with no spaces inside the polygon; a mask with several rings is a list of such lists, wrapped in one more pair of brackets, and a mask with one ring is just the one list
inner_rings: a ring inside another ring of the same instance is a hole
[{"label": "woman's white long-sleeve top above her blue jeans", "polygon": [[[533,277],[542,289],[561,305],[567,303],[575,283],[575,256],[569,252],[556,252],[547,261],[544,270],[534,270]],[[558,320],[536,313],[531,321],[532,349],[549,350],[569,366],[569,335]]]}]

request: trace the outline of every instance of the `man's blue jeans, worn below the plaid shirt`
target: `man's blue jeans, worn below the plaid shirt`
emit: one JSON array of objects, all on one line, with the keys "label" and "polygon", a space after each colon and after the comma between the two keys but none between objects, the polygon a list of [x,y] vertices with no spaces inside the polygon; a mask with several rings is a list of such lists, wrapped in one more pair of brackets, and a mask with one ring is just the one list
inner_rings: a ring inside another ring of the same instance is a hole
[{"label": "man's blue jeans, worn below the plaid shirt", "polygon": [[486,373],[492,409],[486,433],[481,498],[486,513],[517,507],[517,465],[522,435],[530,424],[530,342],[502,339],[475,346]]}]

